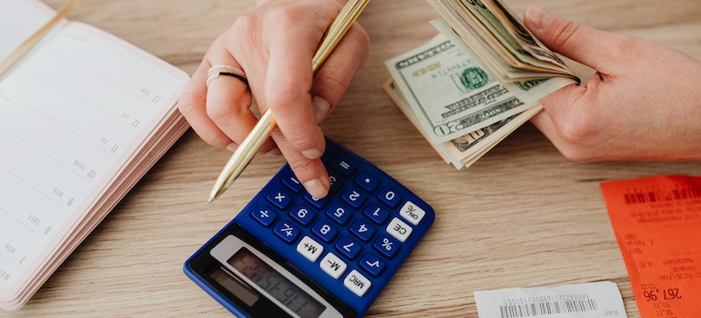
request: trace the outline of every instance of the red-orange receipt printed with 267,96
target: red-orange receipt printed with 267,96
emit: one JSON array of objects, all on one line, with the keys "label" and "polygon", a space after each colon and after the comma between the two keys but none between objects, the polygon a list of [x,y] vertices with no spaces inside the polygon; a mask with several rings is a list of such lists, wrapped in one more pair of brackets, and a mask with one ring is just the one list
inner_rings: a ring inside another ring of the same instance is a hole
[{"label": "red-orange receipt printed with 267,96", "polygon": [[701,177],[600,185],[640,314],[701,315]]}]

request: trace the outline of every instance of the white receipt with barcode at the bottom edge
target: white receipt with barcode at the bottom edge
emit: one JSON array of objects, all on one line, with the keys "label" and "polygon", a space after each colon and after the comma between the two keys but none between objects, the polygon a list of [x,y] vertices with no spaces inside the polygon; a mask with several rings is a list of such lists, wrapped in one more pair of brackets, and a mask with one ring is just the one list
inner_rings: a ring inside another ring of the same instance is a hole
[{"label": "white receipt with barcode at the bottom edge", "polygon": [[477,291],[474,301],[480,318],[626,317],[612,282]]}]

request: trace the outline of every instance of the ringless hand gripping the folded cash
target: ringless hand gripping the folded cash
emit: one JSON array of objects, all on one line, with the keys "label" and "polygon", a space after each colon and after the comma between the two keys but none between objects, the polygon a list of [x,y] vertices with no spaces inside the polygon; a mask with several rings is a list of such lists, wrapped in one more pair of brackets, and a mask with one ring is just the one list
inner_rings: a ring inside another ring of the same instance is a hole
[{"label": "ringless hand gripping the folded cash", "polygon": [[701,160],[701,62],[531,7],[525,25],[596,74],[544,97],[531,122],[570,160]]}]

